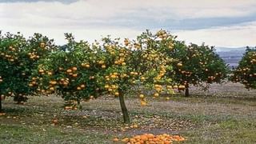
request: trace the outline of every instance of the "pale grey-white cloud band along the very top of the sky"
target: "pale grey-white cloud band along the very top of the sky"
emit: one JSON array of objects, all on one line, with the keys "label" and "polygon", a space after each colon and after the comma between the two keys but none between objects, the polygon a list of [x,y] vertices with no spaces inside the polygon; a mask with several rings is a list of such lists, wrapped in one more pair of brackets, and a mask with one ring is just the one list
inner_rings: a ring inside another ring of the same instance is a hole
[{"label": "pale grey-white cloud band along the very top of the sky", "polygon": [[238,17],[256,12],[254,0],[84,0],[69,5],[61,2],[15,2],[0,3],[2,18],[51,18],[52,22],[59,19],[76,19],[90,21],[92,18],[126,18],[129,14],[137,14],[146,18],[184,19],[211,17]]}]

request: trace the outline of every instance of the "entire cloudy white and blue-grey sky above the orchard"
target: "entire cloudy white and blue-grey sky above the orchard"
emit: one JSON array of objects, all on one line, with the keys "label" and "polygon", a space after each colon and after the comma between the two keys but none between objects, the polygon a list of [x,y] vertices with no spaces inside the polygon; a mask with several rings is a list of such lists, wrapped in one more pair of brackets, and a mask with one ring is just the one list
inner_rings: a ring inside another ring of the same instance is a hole
[{"label": "entire cloudy white and blue-grey sky above the orchard", "polygon": [[186,43],[256,46],[255,7],[255,0],[0,0],[0,30],[46,34],[59,45],[64,33],[93,42],[164,29]]}]

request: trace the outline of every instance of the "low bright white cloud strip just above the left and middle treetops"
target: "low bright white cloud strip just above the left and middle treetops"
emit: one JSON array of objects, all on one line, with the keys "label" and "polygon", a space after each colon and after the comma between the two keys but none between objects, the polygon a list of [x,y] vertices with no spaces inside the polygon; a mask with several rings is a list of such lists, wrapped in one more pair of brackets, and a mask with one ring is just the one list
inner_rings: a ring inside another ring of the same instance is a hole
[{"label": "low bright white cloud strip just above the left and middle treetops", "polygon": [[66,43],[64,33],[72,33],[76,40],[85,40],[88,42],[94,42],[94,40],[100,40],[102,37],[110,35],[111,38],[136,38],[139,34],[142,34],[140,30],[125,29],[125,28],[93,28],[93,29],[75,29],[75,30],[62,30],[62,29],[52,29],[52,28],[23,28],[20,30],[18,26],[6,26],[6,30],[3,33],[17,33],[21,32],[26,38],[30,37],[34,33],[40,33],[48,36],[49,38],[54,38],[54,42],[58,45]]}]

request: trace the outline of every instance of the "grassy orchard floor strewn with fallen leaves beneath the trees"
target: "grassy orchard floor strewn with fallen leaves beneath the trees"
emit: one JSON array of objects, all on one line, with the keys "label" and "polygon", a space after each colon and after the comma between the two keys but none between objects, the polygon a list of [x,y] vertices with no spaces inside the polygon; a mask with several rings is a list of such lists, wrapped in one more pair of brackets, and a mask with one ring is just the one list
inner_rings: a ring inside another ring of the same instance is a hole
[{"label": "grassy orchard floor strewn with fallen leaves beneath the trees", "polygon": [[7,98],[0,143],[118,143],[112,139],[144,133],[180,134],[187,139],[181,143],[256,143],[256,90],[226,83],[207,91],[193,87],[190,94],[152,98],[143,107],[131,94],[131,126],[122,124],[117,98],[83,102],[82,110],[63,110],[62,98],[55,96],[31,97],[25,105]]}]

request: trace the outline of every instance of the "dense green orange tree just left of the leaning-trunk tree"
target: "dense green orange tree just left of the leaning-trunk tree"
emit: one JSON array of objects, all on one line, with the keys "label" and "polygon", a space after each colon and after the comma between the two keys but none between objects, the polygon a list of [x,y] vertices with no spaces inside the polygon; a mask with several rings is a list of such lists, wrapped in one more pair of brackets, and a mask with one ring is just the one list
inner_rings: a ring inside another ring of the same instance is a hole
[{"label": "dense green orange tree just left of the leaning-trunk tree", "polygon": [[41,59],[34,69],[30,84],[41,94],[57,94],[66,100],[66,109],[77,109],[82,100],[101,94],[97,82],[102,67],[97,66],[96,48],[87,42],[75,42],[71,34],[65,34],[68,43]]}]

